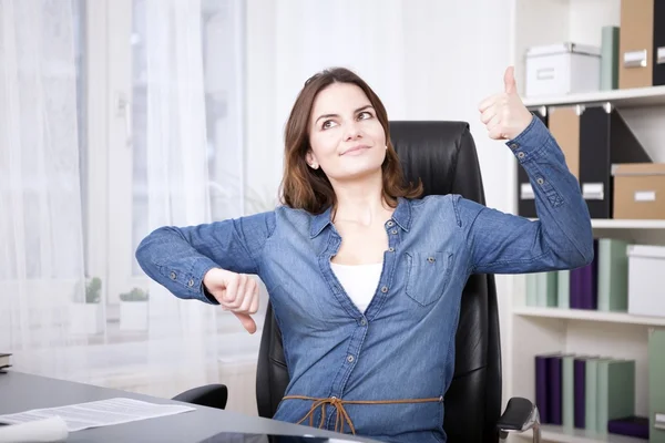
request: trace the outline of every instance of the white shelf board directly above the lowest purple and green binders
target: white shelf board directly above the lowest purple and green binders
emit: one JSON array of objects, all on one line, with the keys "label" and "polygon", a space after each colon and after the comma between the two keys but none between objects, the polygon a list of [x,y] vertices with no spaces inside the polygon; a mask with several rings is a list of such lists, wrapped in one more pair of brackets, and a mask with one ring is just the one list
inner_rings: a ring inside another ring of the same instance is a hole
[{"label": "white shelf board directly above the lowest purple and green binders", "polygon": [[584,309],[538,308],[525,306],[515,307],[513,309],[513,313],[521,317],[542,317],[562,320],[603,321],[608,323],[665,327],[665,317],[634,316],[626,312],[604,312]]}]

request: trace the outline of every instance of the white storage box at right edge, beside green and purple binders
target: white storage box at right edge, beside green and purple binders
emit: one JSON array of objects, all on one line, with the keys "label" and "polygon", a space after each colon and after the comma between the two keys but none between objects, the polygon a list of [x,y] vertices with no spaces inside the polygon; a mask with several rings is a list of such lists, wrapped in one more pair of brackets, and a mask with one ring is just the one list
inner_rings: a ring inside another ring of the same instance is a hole
[{"label": "white storage box at right edge, beside green and purple binders", "polygon": [[665,247],[630,245],[628,312],[665,317]]}]

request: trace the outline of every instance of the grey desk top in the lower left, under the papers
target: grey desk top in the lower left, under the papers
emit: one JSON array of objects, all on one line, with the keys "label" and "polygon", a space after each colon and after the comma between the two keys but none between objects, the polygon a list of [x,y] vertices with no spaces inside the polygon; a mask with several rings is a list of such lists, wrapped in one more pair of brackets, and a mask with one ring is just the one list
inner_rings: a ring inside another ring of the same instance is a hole
[{"label": "grey desk top in the lower left, under the papers", "polygon": [[[129,398],[160,404],[187,404],[196,411],[141,420],[131,423],[70,432],[68,442],[200,442],[221,432],[247,432],[276,435],[316,435],[338,439],[328,431],[247,416],[231,411],[197,406],[149,395],[90,384],[12,372],[0,374],[0,414],[40,408],[63,406],[112,398]],[[351,437],[347,435],[347,437]],[[356,439],[358,442],[369,440]]]}]

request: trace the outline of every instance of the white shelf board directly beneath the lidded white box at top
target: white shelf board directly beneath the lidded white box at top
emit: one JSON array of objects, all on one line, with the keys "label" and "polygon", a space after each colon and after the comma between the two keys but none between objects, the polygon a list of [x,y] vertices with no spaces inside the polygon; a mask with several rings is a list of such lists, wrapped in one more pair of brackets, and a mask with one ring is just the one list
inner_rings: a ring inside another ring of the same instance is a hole
[{"label": "white shelf board directly beneath the lidded white box at top", "polygon": [[525,97],[523,100],[523,103],[526,107],[593,104],[604,102],[612,102],[617,107],[665,105],[665,86],[584,92],[559,96]]}]

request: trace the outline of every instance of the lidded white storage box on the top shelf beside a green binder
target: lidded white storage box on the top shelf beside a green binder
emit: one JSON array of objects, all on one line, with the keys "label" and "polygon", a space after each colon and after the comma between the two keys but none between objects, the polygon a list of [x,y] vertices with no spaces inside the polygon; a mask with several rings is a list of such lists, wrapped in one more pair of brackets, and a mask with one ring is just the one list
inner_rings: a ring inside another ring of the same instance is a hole
[{"label": "lidded white storage box on the top shelf beside a green binder", "polygon": [[564,95],[600,89],[600,48],[561,43],[526,51],[525,96]]}]

